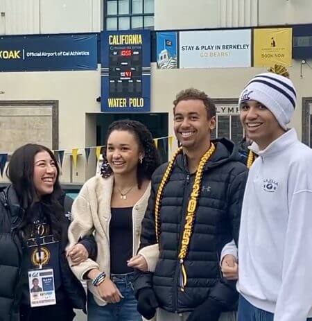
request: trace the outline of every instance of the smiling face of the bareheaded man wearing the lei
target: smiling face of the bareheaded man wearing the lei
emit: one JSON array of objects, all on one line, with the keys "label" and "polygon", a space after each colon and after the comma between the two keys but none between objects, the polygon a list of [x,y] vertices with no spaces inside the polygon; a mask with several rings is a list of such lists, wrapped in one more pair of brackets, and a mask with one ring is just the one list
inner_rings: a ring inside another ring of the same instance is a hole
[{"label": "smiling face of the bareheaded man wearing the lei", "polygon": [[180,101],[175,106],[175,136],[186,150],[207,150],[215,123],[215,117],[208,117],[205,104],[199,99]]}]

